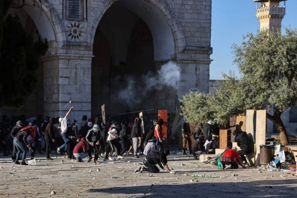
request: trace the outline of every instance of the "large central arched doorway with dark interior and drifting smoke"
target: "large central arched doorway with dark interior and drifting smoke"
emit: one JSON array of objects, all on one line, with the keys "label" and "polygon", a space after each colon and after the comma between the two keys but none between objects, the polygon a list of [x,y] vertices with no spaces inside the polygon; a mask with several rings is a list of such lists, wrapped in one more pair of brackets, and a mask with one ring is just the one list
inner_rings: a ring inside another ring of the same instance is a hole
[{"label": "large central arched doorway with dark interior and drifting smoke", "polygon": [[165,8],[162,11],[151,2],[118,0],[98,14],[93,33],[92,116],[101,112],[102,104],[112,115],[159,108],[155,90],[142,87],[161,64],[174,59],[184,41],[169,25],[175,18],[164,17]]}]

